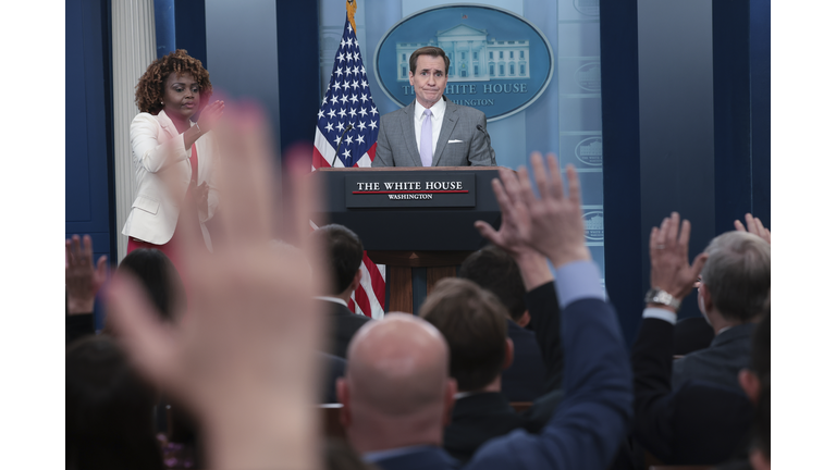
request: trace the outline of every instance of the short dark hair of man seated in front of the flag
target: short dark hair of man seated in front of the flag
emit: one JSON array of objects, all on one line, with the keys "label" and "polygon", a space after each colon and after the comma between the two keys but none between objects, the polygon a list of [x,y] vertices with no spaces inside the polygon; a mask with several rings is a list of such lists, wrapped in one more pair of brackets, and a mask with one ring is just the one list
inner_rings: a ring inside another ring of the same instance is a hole
[{"label": "short dark hair of man seated in front of the flag", "polygon": [[311,236],[319,237],[322,242],[327,257],[325,265],[331,270],[332,290],[329,294],[340,294],[347,289],[362,263],[360,237],[340,224],[321,226]]}]

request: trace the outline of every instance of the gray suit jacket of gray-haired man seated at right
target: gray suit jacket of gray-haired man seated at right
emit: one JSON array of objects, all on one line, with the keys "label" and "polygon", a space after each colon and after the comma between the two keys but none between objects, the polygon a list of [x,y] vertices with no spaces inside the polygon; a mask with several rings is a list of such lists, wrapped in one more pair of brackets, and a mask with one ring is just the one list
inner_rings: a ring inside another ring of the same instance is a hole
[{"label": "gray suit jacket of gray-haired man seated at right", "polygon": [[754,323],[733,326],[714,337],[711,346],[674,361],[673,387],[687,380],[701,380],[740,389],[737,373],[749,367]]}]

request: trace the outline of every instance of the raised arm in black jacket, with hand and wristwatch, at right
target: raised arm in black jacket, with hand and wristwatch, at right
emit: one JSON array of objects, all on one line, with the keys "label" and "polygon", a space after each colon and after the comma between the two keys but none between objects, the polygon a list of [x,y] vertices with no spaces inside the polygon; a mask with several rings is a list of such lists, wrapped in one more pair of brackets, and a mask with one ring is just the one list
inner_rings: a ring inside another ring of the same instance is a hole
[{"label": "raised arm in black jacket, with hand and wristwatch, at right", "polygon": [[[672,385],[678,304],[691,292],[700,270],[705,272],[703,264],[713,256],[703,252],[689,264],[689,237],[690,223],[684,221],[680,230],[676,212],[651,231],[651,285],[660,292],[646,299],[647,308],[632,347],[634,433],[664,463],[715,465],[741,450],[752,421],[752,405],[739,387],[701,380],[687,380],[678,387]],[[751,343],[749,349],[752,350]],[[755,347],[752,351],[753,363],[760,361],[763,350]],[[766,354],[769,357],[769,349]],[[748,389],[749,381],[742,379],[749,375],[741,372],[739,376],[743,389]]]}]

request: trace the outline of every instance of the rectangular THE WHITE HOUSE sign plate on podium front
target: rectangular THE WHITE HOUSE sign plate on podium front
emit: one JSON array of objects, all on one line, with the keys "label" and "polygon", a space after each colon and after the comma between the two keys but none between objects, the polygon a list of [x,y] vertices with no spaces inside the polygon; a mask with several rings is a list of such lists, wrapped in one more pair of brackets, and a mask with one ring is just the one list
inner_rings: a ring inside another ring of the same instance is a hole
[{"label": "rectangular THE WHITE HOUSE sign plate on podium front", "polygon": [[345,177],[347,208],[476,207],[472,172],[367,172]]}]

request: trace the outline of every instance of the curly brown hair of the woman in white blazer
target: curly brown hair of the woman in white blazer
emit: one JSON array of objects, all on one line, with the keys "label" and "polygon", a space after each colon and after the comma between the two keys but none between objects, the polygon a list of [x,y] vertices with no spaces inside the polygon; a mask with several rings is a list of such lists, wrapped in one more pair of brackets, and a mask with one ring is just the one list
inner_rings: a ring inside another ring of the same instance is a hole
[{"label": "curly brown hair of the woman in white blazer", "polygon": [[202,109],[209,103],[209,98],[212,96],[212,83],[209,82],[209,72],[204,69],[202,62],[190,57],[184,49],[177,49],[151,62],[148,65],[148,70],[139,78],[139,83],[136,84],[135,97],[139,111],[153,115],[162,111],[160,101],[162,101],[162,97],[165,95],[163,92],[165,79],[172,73],[176,73],[177,76],[192,74],[200,90],[199,108]]}]

